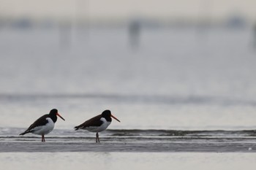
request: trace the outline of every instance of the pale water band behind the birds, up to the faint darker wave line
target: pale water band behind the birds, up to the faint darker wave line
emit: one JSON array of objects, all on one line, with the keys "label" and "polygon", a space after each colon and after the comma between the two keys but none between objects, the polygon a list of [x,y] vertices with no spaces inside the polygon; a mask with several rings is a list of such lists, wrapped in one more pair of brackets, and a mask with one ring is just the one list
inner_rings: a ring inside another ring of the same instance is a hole
[{"label": "pale water band behind the birds, up to the faint darker wave line", "polygon": [[[1,96],[1,95],[0,95]],[[250,101],[254,102],[254,101]],[[55,128],[72,129],[110,109],[115,129],[253,130],[255,105],[219,99],[175,96],[51,96],[10,95],[0,97],[1,127],[27,128],[38,117],[57,108]],[[255,118],[254,118],[255,117]]]}]

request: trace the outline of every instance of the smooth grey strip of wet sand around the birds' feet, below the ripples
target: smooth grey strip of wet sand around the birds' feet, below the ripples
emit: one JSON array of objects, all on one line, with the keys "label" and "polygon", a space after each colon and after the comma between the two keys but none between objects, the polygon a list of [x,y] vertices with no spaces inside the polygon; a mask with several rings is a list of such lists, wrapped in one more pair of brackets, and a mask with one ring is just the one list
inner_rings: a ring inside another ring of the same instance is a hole
[{"label": "smooth grey strip of wet sand around the birds' feet, below the ripples", "polygon": [[0,137],[0,152],[256,152],[255,137]]}]

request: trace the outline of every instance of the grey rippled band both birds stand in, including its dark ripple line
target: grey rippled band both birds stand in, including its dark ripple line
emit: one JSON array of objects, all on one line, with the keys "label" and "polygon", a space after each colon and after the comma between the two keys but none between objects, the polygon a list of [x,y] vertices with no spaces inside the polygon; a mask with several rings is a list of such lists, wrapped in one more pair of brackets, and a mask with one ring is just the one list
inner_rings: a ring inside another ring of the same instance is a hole
[{"label": "grey rippled band both birds stand in, including its dark ripple line", "polygon": [[[1,129],[0,152],[255,152],[256,131],[108,130],[99,133],[56,130],[18,136],[20,128]],[[15,134],[16,132],[17,134]],[[12,135],[10,135],[12,134]]]}]

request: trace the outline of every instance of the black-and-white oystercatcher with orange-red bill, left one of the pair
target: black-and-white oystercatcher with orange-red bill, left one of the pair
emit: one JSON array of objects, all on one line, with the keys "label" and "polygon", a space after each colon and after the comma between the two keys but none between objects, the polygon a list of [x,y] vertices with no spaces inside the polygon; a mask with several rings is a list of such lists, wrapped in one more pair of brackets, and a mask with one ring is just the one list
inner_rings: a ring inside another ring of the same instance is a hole
[{"label": "black-and-white oystercatcher with orange-red bill, left one of the pair", "polygon": [[[29,128],[21,133],[20,135],[24,134],[38,134],[42,136],[42,142],[45,142],[45,135],[49,134],[50,131],[53,131],[54,124],[57,121],[57,116],[61,117],[59,115],[59,112],[57,109],[51,109],[49,114],[42,115],[42,117],[39,117],[34,123],[32,123]],[[64,120],[63,117],[61,117],[62,120]]]}]

